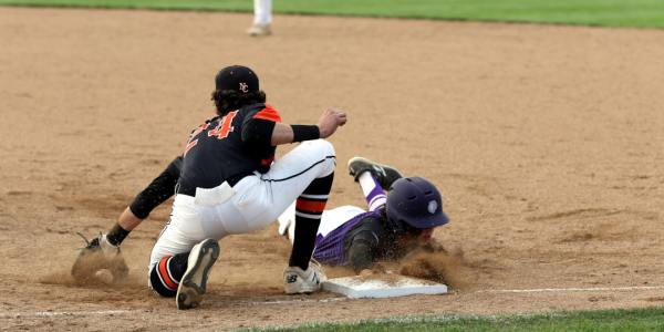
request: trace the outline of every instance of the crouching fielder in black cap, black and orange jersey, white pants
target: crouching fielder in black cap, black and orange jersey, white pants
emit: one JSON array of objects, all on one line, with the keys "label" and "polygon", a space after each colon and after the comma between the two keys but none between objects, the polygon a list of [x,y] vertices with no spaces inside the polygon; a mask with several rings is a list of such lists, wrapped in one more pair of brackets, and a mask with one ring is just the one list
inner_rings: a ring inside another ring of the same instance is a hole
[{"label": "crouching fielder in black cap, black and orange jersey, white pants", "polygon": [[[317,291],[325,276],[310,259],[335,166],[332,145],[319,138],[344,125],[345,113],[330,108],[318,125],[287,125],[264,104],[266,95],[250,69],[226,68],[215,81],[212,100],[218,116],[191,133],[183,157],[172,162],[118,224],[90,241],[84,252],[118,252],[126,235],[170,196],[165,193],[177,178],[172,217],[152,250],[148,267],[149,284],[157,293],[176,297],[178,309],[197,307],[219,256],[217,240],[269,225],[293,200],[299,210],[295,218],[302,225],[295,234],[302,240],[293,242],[283,272],[284,290]],[[303,143],[274,162],[276,146],[293,142]],[[123,227],[125,221],[129,227]]]}]

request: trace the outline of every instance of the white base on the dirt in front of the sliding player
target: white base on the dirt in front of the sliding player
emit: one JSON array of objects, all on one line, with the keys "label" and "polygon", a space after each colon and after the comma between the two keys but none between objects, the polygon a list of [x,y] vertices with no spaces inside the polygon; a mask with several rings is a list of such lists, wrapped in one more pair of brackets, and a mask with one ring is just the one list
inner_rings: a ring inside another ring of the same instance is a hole
[{"label": "white base on the dirt in front of the sliding player", "polygon": [[349,298],[394,298],[413,294],[444,294],[447,286],[427,280],[415,279],[398,274],[384,280],[376,278],[343,277],[323,282],[323,290],[344,294]]}]

